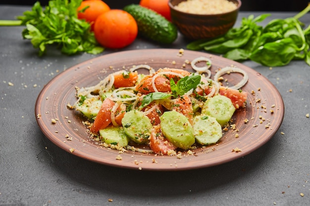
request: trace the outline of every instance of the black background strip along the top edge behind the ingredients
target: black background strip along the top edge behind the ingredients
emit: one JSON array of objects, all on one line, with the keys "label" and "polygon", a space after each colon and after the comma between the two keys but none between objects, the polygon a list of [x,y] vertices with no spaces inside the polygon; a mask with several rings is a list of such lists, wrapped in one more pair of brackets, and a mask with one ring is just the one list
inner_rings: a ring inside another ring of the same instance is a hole
[{"label": "black background strip along the top edge behind the ingredients", "polygon": [[[48,0],[39,0],[46,5]],[[140,0],[104,0],[111,8],[121,8]],[[36,0],[1,0],[0,4],[33,5]],[[301,11],[309,0],[242,0],[240,10],[243,11]]]}]

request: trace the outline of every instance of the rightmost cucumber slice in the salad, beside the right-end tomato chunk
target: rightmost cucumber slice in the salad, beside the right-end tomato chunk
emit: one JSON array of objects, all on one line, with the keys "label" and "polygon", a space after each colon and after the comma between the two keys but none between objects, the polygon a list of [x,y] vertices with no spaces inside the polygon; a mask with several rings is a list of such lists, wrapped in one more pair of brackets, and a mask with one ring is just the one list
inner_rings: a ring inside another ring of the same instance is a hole
[{"label": "rightmost cucumber slice in the salad, beside the right-end tomato chunk", "polygon": [[233,103],[228,97],[218,94],[207,99],[201,113],[214,117],[221,126],[224,126],[231,119],[235,110]]}]

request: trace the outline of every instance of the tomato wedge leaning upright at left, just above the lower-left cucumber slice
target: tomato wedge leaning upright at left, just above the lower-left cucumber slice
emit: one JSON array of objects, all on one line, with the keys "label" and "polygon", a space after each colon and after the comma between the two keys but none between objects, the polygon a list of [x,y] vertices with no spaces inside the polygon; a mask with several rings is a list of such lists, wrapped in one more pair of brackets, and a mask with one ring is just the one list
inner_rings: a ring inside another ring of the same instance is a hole
[{"label": "tomato wedge leaning upright at left, just above the lower-left cucumber slice", "polygon": [[98,133],[100,129],[105,128],[111,123],[111,109],[114,106],[114,102],[109,99],[105,98],[103,100],[103,104],[96,116],[94,124],[91,127],[91,132]]}]

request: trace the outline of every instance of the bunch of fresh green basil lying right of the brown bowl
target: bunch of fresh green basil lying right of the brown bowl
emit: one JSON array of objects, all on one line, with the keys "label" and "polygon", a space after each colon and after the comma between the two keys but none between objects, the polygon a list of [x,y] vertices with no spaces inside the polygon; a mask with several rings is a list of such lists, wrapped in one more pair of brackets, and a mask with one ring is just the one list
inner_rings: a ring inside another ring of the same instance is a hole
[{"label": "bunch of fresh green basil lying right of the brown bowl", "polygon": [[211,51],[235,61],[250,59],[265,66],[284,66],[292,60],[304,60],[310,65],[310,26],[298,19],[310,11],[308,6],[286,19],[273,19],[265,27],[257,23],[270,14],[243,18],[239,28],[230,29],[224,36],[212,40],[193,41],[188,49]]}]

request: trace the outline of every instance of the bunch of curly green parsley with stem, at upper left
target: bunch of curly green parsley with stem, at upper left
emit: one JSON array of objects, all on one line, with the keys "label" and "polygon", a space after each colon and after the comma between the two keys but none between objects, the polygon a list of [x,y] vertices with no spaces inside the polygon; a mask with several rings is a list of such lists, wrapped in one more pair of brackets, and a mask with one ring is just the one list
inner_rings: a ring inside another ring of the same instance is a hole
[{"label": "bunch of curly green parsley with stem, at upper left", "polygon": [[55,44],[62,53],[72,55],[79,52],[98,54],[104,48],[99,46],[91,26],[77,18],[77,8],[82,0],[50,0],[43,10],[37,1],[31,11],[25,11],[16,21],[0,21],[0,26],[24,25],[24,39],[31,40],[39,48],[39,56],[46,47]]}]

